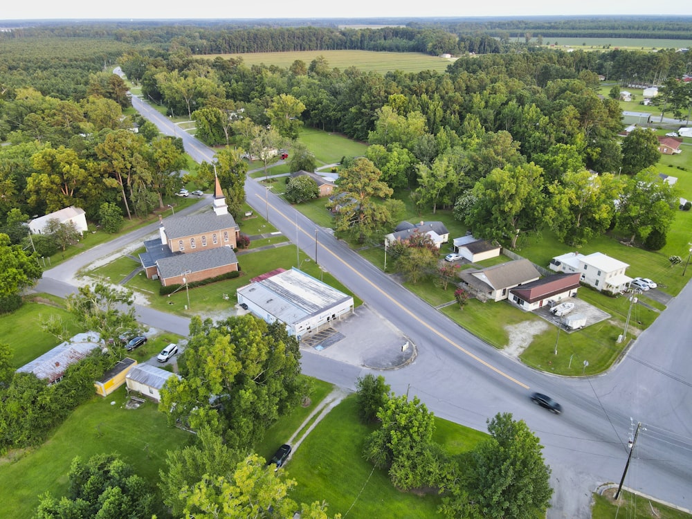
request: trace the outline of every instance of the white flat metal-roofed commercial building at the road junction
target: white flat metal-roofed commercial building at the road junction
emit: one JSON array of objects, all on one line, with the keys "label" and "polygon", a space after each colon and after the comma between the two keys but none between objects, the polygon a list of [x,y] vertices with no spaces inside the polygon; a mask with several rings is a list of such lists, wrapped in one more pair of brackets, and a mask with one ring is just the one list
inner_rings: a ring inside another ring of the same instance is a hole
[{"label": "white flat metal-roofed commercial building at the road junction", "polygon": [[354,302],[333,287],[292,268],[237,290],[238,303],[266,322],[280,321],[289,335],[304,334],[353,311]]}]

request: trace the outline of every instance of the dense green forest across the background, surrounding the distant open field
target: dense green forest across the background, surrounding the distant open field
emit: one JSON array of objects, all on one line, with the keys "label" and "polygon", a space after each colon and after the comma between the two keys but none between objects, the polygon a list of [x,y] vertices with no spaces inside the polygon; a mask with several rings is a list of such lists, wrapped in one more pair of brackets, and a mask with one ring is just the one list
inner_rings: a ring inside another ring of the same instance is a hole
[{"label": "dense green forest across the background, surrounding the distant open field", "polygon": [[[125,215],[146,214],[174,192],[176,183],[166,174],[178,158],[143,121],[123,116],[129,98],[111,73],[115,64],[145,98],[170,115],[194,120],[197,137],[210,145],[251,149],[266,138],[258,129],[268,125],[284,142],[298,136],[300,125],[340,132],[373,145],[371,158],[390,188],[419,190],[421,203],[448,208],[506,165],[535,163],[546,181],[558,183],[564,170],[558,164],[567,158],[576,170],[598,172],[624,168],[634,174],[650,165],[637,169],[623,161],[617,140],[621,111],[614,98],[598,95],[603,78],[663,85],[660,99],[677,117],[686,116],[691,105],[689,83],[676,83],[688,71],[689,57],[672,49],[565,52],[479,35],[477,42],[489,42],[485,52],[461,53],[444,73],[382,75],[355,66],[333,69],[325,57],[295,60],[282,69],[197,53],[219,42],[251,40],[281,47],[302,39],[310,48],[322,35],[348,35],[360,48],[403,41],[432,52],[431,45],[440,45],[437,53],[444,42],[461,45],[472,37],[415,27],[192,30],[92,24],[41,30],[2,36],[0,138],[12,146],[0,151],[1,219],[11,208],[32,215],[72,203],[84,206],[91,219],[103,203],[118,204]],[[143,125],[143,131],[125,131],[132,125]],[[112,154],[125,153],[119,147],[128,154],[126,171],[111,167]],[[443,173],[453,181],[432,200],[425,186],[431,175]],[[51,186],[60,188],[60,196]]]}]

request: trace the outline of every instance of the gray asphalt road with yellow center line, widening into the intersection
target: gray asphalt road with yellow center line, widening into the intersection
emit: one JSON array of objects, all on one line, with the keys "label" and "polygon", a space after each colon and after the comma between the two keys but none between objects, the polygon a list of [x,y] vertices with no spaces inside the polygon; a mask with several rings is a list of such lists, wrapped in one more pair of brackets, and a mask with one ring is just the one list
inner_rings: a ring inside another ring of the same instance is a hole
[{"label": "gray asphalt road with yellow center line, widening into the intersection", "polygon": [[[137,98],[133,104],[165,133],[173,134],[170,120]],[[195,160],[212,161],[211,149],[190,136],[183,140]],[[643,421],[646,430],[639,433],[626,486],[692,508],[692,354],[687,347],[691,325],[685,312],[692,302],[689,286],[610,373],[558,379],[530,370],[468,334],[338,242],[329,230],[317,228],[316,233],[309,219],[249,178],[246,194],[255,210],[264,215],[268,206],[269,220],[278,230],[295,237],[308,255],[317,252],[321,266],[416,343],[416,361],[386,373],[394,391],[409,390],[437,416],[480,430],[496,412],[509,411],[527,421],[545,446],[553,469],[556,494],[549,518],[590,517],[590,491],[601,482],[619,481],[628,454],[630,417]],[[110,244],[104,244],[106,248]],[[64,268],[69,270],[68,265]],[[51,277],[48,271],[46,278]],[[175,322],[179,318],[138,311],[148,324],[181,333],[183,322]],[[347,388],[365,372],[316,354],[304,354],[302,365],[307,374]],[[561,401],[563,415],[531,404],[531,390]]]}]

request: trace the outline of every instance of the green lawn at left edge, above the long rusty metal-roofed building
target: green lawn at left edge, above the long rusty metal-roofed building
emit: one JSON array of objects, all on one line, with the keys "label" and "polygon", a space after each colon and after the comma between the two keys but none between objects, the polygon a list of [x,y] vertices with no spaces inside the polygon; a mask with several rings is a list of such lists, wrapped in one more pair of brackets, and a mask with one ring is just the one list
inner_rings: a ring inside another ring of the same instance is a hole
[{"label": "green lawn at left edge, above the long rusty metal-roofed building", "polygon": [[66,338],[84,331],[64,309],[62,300],[47,294],[33,295],[19,310],[0,315],[0,341],[10,345],[14,367],[33,361],[62,342],[53,334],[42,330],[41,323],[48,318],[62,319],[66,327]]}]

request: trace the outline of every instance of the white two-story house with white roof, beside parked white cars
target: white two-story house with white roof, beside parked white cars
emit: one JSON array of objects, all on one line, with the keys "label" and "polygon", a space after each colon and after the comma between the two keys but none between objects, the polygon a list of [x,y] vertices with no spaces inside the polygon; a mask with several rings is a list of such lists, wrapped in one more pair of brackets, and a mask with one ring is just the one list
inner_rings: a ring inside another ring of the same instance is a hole
[{"label": "white two-story house with white roof, beside parked white cars", "polygon": [[621,292],[632,278],[625,274],[629,265],[603,253],[567,253],[550,260],[552,271],[581,274],[581,282],[599,291]]}]

